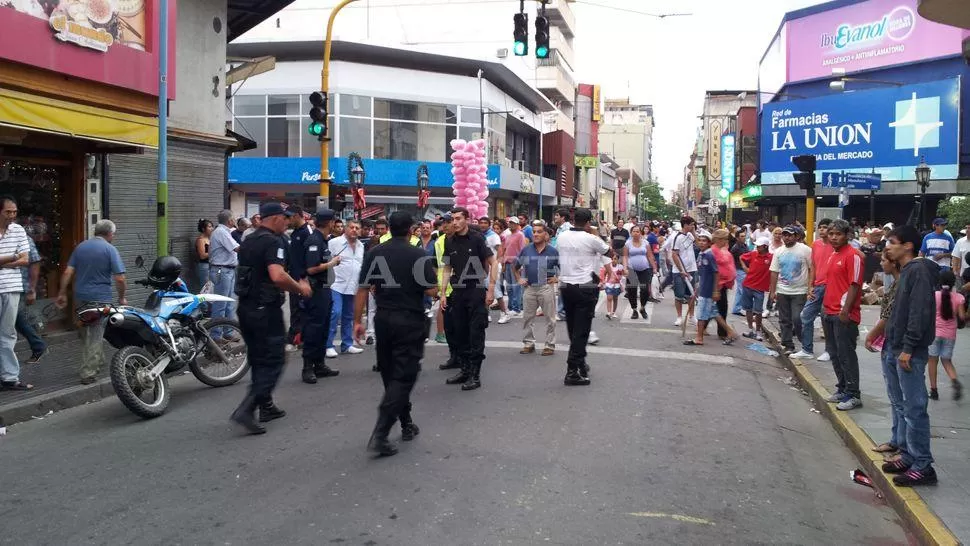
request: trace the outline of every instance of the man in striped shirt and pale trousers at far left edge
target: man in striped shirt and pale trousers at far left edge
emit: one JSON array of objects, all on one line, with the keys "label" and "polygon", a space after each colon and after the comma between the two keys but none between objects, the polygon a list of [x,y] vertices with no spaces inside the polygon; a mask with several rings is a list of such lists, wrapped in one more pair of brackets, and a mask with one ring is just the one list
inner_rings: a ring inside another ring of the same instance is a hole
[{"label": "man in striped shirt and pale trousers at far left edge", "polygon": [[27,266],[30,243],[16,219],[17,202],[12,197],[0,197],[0,388],[26,391],[34,387],[20,381],[20,361],[14,346],[17,309],[24,291],[20,268]]}]

